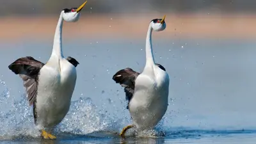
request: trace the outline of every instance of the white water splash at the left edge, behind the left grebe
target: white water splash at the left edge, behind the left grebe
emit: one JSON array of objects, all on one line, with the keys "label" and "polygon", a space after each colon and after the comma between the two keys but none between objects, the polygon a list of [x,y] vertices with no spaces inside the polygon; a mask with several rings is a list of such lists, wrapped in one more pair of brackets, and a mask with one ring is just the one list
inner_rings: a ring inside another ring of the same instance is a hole
[{"label": "white water splash at the left edge, behind the left grebe", "polygon": [[4,81],[0,80],[0,83],[4,87],[0,95],[0,139],[38,136],[38,132],[33,128],[33,116],[26,95],[22,95],[22,100],[15,100],[14,97],[10,97],[10,90]]}]

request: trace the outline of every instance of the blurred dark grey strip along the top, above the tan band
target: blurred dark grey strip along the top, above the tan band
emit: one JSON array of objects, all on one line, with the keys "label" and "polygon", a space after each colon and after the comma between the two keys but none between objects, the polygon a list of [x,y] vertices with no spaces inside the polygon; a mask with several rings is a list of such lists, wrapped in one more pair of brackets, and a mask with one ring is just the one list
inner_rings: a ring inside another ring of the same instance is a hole
[{"label": "blurred dark grey strip along the top, above the tan band", "polygon": [[[24,0],[1,1],[1,15],[56,15],[67,6],[78,6],[79,1],[68,0]],[[172,13],[252,13],[255,12],[255,1],[252,0],[91,0],[88,1],[86,12],[93,13],[141,13],[141,12],[172,12]],[[91,9],[90,9],[91,8]]]}]

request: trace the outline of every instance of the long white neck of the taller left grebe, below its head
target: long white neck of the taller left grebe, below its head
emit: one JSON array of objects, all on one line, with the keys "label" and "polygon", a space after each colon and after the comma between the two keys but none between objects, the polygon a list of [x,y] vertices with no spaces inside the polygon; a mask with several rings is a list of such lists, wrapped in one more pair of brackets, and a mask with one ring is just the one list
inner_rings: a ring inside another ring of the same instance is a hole
[{"label": "long white neck of the taller left grebe, below its head", "polygon": [[62,47],[61,47],[62,26],[63,26],[63,18],[62,18],[62,13],[61,13],[60,19],[58,20],[58,24],[57,24],[56,30],[55,30],[51,57],[57,56],[58,58],[63,58]]}]

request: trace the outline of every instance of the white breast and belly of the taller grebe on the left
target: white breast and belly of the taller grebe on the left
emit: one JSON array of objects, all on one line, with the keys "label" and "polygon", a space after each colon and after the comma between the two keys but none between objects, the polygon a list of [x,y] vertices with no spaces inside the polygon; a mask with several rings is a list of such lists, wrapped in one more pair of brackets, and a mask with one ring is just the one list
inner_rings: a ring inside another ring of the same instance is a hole
[{"label": "white breast and belly of the taller grebe on the left", "polygon": [[70,108],[76,86],[76,68],[64,58],[48,61],[40,70],[36,112],[38,125],[52,127],[61,122]]}]

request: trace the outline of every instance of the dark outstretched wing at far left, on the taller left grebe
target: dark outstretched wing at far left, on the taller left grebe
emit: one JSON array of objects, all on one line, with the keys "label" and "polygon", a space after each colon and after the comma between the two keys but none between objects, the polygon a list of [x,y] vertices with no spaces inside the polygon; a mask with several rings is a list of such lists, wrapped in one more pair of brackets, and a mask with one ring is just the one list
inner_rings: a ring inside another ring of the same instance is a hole
[{"label": "dark outstretched wing at far left, on the taller left grebe", "polygon": [[36,99],[38,74],[43,66],[44,63],[35,60],[31,56],[19,58],[8,66],[12,72],[19,74],[22,78],[23,86],[26,88],[29,106],[31,106]]}]

